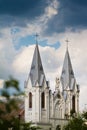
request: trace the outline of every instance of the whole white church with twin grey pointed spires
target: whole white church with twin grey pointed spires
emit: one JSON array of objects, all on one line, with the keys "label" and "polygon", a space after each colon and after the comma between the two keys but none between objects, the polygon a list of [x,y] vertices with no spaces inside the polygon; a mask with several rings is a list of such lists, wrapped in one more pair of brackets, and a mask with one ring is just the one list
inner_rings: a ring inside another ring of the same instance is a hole
[{"label": "whole white church with twin grey pointed spires", "polygon": [[[71,116],[79,113],[79,85],[73,72],[68,47],[60,77],[55,79],[55,91],[50,90],[36,44],[25,88],[25,122],[43,130],[62,130]],[[62,89],[60,89],[62,88]]]}]

